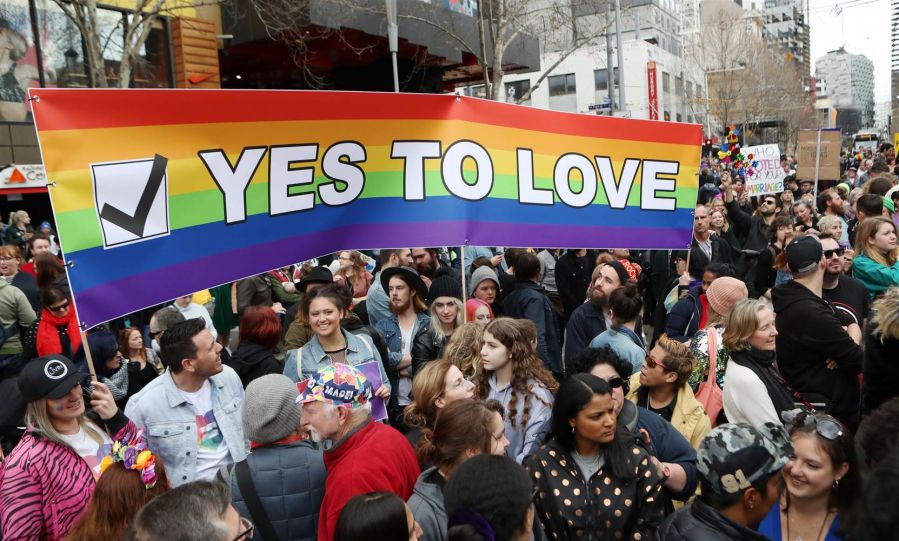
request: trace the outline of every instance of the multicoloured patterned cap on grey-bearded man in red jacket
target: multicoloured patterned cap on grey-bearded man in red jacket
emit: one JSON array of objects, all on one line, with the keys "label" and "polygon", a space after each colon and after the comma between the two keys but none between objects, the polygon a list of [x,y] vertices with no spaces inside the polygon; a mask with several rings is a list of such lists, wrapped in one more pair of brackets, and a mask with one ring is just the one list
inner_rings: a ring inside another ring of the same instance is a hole
[{"label": "multicoloured patterned cap on grey-bearded man in red jacket", "polygon": [[297,404],[324,402],[350,409],[361,408],[372,398],[371,382],[360,370],[335,363],[297,383]]}]

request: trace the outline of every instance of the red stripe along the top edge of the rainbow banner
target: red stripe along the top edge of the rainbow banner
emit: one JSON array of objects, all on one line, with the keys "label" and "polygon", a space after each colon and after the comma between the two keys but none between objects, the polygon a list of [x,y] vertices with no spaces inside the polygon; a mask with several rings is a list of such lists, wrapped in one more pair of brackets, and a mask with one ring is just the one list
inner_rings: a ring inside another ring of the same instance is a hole
[{"label": "red stripe along the top edge of the rainbow banner", "polygon": [[698,124],[561,113],[451,94],[303,90],[32,89],[39,130],[304,120],[463,120],[537,132],[699,145]]}]

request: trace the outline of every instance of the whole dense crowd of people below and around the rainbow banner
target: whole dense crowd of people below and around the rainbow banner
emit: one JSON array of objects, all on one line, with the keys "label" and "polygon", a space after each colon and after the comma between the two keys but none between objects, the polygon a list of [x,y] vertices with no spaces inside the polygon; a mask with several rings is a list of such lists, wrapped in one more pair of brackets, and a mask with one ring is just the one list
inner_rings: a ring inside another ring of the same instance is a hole
[{"label": "whole dense crowd of people below and around the rainbow banner", "polygon": [[345,250],[84,339],[16,215],[2,539],[893,539],[899,190],[871,159],[816,188],[785,157],[757,197],[704,163],[682,251]]}]

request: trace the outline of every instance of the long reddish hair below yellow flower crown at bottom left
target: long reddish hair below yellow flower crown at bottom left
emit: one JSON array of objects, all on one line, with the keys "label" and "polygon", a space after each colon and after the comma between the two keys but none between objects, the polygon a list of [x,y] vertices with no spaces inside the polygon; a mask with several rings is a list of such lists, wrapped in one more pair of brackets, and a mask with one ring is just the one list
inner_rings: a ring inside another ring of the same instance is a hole
[{"label": "long reddish hair below yellow flower crown at bottom left", "polygon": [[145,488],[137,470],[125,469],[122,462],[111,464],[100,479],[84,514],[66,536],[66,541],[122,539],[131,520],[150,500],[171,488],[165,466],[159,455],[156,462],[156,484]]}]

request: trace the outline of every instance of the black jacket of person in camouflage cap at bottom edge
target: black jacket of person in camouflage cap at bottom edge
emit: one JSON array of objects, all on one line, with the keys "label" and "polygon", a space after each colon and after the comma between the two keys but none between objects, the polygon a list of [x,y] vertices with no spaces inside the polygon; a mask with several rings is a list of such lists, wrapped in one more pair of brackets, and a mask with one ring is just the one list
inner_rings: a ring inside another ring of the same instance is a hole
[{"label": "black jacket of person in camouflage cap at bottom edge", "polygon": [[769,541],[696,500],[670,515],[656,532],[658,541]]}]

